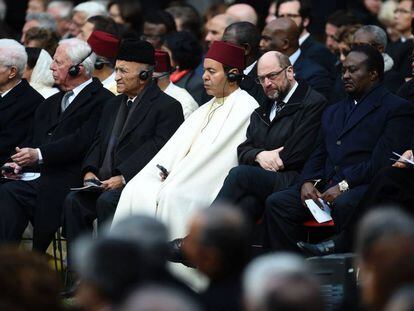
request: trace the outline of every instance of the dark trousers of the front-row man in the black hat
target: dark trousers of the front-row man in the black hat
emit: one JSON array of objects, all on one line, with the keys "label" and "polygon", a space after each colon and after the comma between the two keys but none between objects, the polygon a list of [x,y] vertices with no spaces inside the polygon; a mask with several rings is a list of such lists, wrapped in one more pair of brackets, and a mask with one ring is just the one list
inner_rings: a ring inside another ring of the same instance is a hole
[{"label": "dark trousers of the front-row man in the black hat", "polygon": [[98,220],[99,230],[111,222],[122,188],[104,192],[72,191],[63,204],[65,236],[68,244],[80,234],[92,232],[93,221]]}]

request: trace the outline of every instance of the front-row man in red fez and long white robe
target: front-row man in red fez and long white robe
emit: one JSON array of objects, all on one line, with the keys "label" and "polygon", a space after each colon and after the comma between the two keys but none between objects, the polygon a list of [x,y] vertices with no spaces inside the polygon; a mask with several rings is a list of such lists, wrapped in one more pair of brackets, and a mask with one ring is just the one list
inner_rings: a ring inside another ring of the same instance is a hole
[{"label": "front-row man in red fez and long white robe", "polygon": [[[250,115],[258,107],[256,100],[239,88],[244,66],[242,48],[223,41],[211,45],[204,60],[203,80],[214,98],[194,111],[127,184],[114,222],[144,213],[167,224],[172,238],[187,234],[189,217],[211,204],[228,171],[237,165],[237,146],[245,140]],[[186,276],[188,271],[183,272]]]}]

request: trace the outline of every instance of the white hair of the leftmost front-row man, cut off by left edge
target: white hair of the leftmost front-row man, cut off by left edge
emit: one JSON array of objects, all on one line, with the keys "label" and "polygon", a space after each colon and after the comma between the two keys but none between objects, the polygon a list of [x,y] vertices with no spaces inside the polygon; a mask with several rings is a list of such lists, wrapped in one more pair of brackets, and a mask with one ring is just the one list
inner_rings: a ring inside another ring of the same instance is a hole
[{"label": "white hair of the leftmost front-row man, cut off by left edge", "polygon": [[17,68],[17,78],[23,77],[27,63],[27,53],[23,45],[16,40],[0,39],[0,64]]}]

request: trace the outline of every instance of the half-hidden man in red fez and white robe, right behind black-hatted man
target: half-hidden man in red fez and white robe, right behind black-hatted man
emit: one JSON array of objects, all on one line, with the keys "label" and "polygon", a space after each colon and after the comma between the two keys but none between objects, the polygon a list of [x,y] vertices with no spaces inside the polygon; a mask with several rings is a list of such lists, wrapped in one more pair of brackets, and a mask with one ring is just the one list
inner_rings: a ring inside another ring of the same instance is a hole
[{"label": "half-hidden man in red fez and white robe, right behind black-hatted man", "polygon": [[185,88],[179,87],[170,81],[171,63],[170,56],[162,50],[155,50],[155,71],[154,78],[157,79],[158,86],[165,94],[178,100],[183,108],[184,118],[198,108],[197,102]]}]

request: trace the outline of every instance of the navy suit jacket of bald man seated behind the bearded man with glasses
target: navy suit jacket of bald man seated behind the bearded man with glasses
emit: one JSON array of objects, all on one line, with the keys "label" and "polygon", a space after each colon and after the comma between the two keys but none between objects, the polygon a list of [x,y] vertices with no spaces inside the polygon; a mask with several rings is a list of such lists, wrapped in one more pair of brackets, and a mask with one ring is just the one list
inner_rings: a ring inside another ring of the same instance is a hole
[{"label": "navy suit jacket of bald man seated behind the bearded man with glasses", "polygon": [[306,81],[310,87],[329,101],[334,81],[325,68],[300,53],[299,58],[293,64],[293,69],[296,80]]}]

